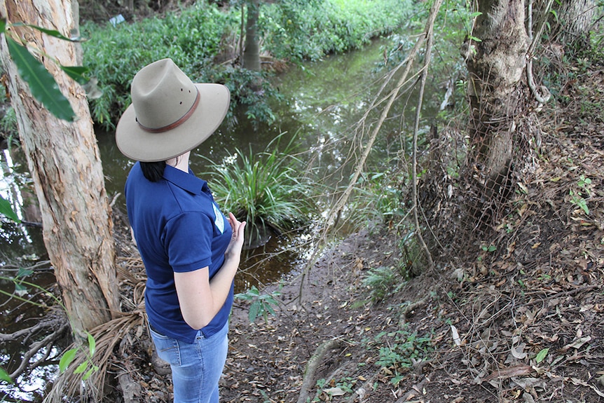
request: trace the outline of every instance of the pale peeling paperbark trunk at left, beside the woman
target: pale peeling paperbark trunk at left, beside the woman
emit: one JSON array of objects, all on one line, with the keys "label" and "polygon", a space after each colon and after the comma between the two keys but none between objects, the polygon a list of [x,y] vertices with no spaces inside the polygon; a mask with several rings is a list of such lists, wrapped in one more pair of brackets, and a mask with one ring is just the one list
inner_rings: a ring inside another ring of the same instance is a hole
[{"label": "pale peeling paperbark trunk at left, beside the woman", "polygon": [[[26,22],[69,37],[78,23],[71,6],[70,0],[2,0],[0,13],[9,23]],[[119,294],[113,224],[88,102],[81,86],[50,57],[65,66],[80,65],[81,60],[74,43],[29,27],[12,27],[11,34],[39,50],[37,56],[77,116],[73,123],[62,121],[34,100],[2,38],[1,58],[41,207],[44,242],[71,327],[76,335],[85,336],[86,330],[107,322],[119,311]]]}]

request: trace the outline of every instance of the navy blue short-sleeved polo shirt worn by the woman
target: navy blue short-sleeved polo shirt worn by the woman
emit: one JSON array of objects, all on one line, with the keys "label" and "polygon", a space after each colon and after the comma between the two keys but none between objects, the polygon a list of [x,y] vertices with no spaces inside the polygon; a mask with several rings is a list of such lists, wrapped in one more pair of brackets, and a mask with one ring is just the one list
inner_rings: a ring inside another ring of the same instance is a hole
[{"label": "navy blue short-sleeved polo shirt worn by the woman", "polygon": [[[132,231],[144,263],[147,280],[145,308],[153,329],[174,339],[193,343],[199,329],[182,317],[174,272],[208,266],[210,279],[224,263],[231,240],[231,225],[219,210],[207,182],[167,165],[163,179],[147,180],[135,163],[125,184],[126,207]],[[218,332],[233,305],[233,285],[224,306],[204,336]]]}]

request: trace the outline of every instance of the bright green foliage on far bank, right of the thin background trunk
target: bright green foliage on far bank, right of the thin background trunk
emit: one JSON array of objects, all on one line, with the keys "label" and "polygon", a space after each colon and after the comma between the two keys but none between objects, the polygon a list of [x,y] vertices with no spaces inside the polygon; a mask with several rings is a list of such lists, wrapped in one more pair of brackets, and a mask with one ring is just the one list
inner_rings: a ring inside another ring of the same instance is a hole
[{"label": "bright green foliage on far bank, right of the thin background trunk", "polygon": [[261,8],[259,31],[275,57],[294,62],[360,48],[406,20],[406,1],[282,1]]}]

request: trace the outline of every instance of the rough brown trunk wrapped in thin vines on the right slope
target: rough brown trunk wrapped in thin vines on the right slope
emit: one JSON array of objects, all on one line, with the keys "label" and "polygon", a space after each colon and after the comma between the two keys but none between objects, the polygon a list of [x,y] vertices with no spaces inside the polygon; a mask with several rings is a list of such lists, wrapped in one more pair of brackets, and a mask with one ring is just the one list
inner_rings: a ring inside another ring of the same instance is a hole
[{"label": "rough brown trunk wrapped in thin vines on the right slope", "polygon": [[465,43],[469,100],[469,149],[463,179],[474,196],[468,223],[489,226],[493,203],[505,198],[514,139],[524,108],[521,83],[526,67],[528,35],[522,0],[481,0],[481,15]]}]

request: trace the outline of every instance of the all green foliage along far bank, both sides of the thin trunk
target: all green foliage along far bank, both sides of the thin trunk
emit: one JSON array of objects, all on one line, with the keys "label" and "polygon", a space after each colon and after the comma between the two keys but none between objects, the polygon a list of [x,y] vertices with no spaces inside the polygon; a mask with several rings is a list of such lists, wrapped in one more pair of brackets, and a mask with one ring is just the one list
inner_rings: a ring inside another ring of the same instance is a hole
[{"label": "all green foliage along far bank, both sides of the thin trunk", "polygon": [[[259,35],[262,51],[282,60],[318,60],[334,52],[359,48],[372,37],[390,34],[405,20],[405,1],[283,1],[261,4]],[[240,4],[238,4],[239,6]],[[410,7],[407,7],[410,8]],[[146,64],[171,57],[199,82],[224,83],[231,90],[231,111],[247,107],[252,122],[273,123],[268,100],[277,91],[266,73],[216,65],[220,53],[231,52],[239,33],[238,7],[219,8],[196,1],[193,6],[164,18],[149,18],[116,27],[88,22],[82,28],[84,64],[98,81],[99,97],[90,100],[92,119],[102,128],[114,128],[130,104],[130,81]],[[232,113],[229,115],[232,116]]]}]

